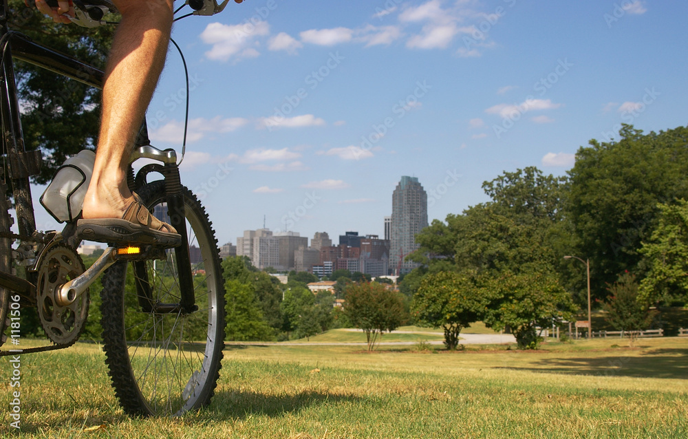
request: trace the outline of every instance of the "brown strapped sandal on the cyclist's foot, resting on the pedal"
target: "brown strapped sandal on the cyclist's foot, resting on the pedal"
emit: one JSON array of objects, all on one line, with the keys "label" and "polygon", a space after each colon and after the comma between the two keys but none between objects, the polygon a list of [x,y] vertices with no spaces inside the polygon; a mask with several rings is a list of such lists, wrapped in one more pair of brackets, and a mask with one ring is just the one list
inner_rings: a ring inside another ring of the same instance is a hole
[{"label": "brown strapped sandal on the cyclist's foot, resting on the pedal", "polygon": [[182,237],[175,228],[151,215],[136,194],[122,219],[79,219],[76,222],[76,235],[81,239],[108,244],[175,247],[182,242]]}]

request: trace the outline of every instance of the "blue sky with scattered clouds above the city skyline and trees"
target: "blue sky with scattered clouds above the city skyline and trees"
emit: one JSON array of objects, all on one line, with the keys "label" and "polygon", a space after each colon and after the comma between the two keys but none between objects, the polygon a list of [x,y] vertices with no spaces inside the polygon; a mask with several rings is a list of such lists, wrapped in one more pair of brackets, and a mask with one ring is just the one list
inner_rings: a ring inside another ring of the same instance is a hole
[{"label": "blue sky with scattered clouds above the city skyline and trees", "polygon": [[[402,175],[444,219],[503,171],[566,173],[621,122],[685,125],[687,16],[679,1],[230,2],[173,30],[192,78],[182,182],[220,244],[264,217],[382,235]],[[171,50],[153,144],[180,147],[183,92]]]}]

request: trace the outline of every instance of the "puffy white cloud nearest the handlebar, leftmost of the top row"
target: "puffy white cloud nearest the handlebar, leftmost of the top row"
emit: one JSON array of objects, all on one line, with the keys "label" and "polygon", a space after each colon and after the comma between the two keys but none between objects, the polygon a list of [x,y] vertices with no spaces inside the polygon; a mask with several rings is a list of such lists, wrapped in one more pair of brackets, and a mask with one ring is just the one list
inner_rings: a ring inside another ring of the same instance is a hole
[{"label": "puffy white cloud nearest the handlebar, leftmost of the top row", "polygon": [[266,21],[238,25],[210,23],[201,33],[201,40],[213,46],[206,52],[209,59],[229,61],[230,58],[239,60],[258,56],[257,40],[269,34],[270,25]]}]

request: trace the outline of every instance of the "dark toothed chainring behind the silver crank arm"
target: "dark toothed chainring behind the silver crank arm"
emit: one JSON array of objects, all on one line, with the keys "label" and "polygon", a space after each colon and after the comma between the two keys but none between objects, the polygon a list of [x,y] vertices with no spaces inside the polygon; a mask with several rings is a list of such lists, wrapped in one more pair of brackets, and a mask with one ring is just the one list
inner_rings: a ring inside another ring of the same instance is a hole
[{"label": "dark toothed chainring behind the silver crank arm", "polygon": [[81,257],[65,244],[46,250],[37,270],[37,309],[47,337],[58,344],[74,343],[84,329],[89,307],[89,291],[74,303],[59,306],[55,295],[61,286],[86,270]]}]

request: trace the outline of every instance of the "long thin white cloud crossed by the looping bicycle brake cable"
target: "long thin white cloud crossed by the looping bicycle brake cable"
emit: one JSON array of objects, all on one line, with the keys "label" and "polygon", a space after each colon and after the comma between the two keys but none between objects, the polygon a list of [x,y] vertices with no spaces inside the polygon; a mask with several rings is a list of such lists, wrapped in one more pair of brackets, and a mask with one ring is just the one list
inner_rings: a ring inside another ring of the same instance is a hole
[{"label": "long thin white cloud crossed by the looping bicycle brake cable", "polygon": [[[204,133],[228,133],[246,125],[248,119],[222,118],[215,116],[212,119],[196,118],[189,120],[189,129],[186,132],[186,142],[197,142],[204,137]],[[151,140],[156,142],[182,142],[184,138],[184,122],[171,120],[162,127],[152,130]]]}]

